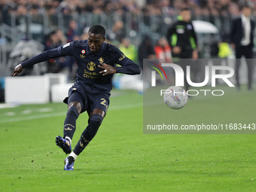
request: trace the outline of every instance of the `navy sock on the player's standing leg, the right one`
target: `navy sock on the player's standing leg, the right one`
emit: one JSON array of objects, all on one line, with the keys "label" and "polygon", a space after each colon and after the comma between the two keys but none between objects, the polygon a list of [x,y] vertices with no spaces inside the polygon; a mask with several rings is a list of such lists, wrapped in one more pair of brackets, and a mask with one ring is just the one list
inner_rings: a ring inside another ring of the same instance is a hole
[{"label": "navy sock on the player's standing leg, the right one", "polygon": [[103,117],[101,115],[93,114],[93,116],[90,118],[87,128],[82,133],[81,138],[78,141],[78,144],[75,145],[75,148],[73,150],[75,154],[79,155],[84,150],[84,148],[87,147],[89,142],[93,139],[93,137],[99,130],[99,126],[101,125],[102,120]]}]

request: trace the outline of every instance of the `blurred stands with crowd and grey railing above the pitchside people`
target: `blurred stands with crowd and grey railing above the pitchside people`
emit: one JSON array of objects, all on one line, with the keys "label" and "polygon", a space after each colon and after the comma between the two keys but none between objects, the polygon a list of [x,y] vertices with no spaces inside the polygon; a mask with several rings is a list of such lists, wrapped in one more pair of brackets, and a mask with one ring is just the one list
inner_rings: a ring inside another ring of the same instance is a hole
[{"label": "blurred stands with crowd and grey railing above the pitchside people", "polygon": [[[61,30],[64,35],[69,31],[69,22],[75,20],[78,28],[75,38],[81,38],[87,27],[99,23],[106,27],[107,37],[112,43],[119,44],[121,38],[128,37],[139,46],[143,37],[148,35],[155,44],[157,39],[166,35],[166,29],[173,23],[181,8],[191,8],[192,20],[213,23],[218,35],[200,39],[203,46],[221,41],[228,35],[230,21],[239,16],[239,3],[248,2],[256,16],[254,1],[204,0],[204,1],[1,1],[1,62],[6,63],[8,53],[21,38],[35,39],[45,44],[47,35]],[[28,30],[29,26],[29,30]],[[69,37],[66,37],[69,38]],[[69,41],[69,39],[68,39]],[[11,44],[11,45],[10,45]],[[5,45],[5,46],[3,46]],[[201,57],[206,54],[202,53]]]}]

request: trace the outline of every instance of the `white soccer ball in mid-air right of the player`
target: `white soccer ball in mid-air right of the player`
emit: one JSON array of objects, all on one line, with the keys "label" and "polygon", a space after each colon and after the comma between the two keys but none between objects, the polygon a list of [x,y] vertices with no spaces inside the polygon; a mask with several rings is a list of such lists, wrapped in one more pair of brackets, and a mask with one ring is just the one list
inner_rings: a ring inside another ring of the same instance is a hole
[{"label": "white soccer ball in mid-air right of the player", "polygon": [[183,108],[187,103],[187,92],[178,86],[169,87],[163,93],[163,101],[169,108]]}]

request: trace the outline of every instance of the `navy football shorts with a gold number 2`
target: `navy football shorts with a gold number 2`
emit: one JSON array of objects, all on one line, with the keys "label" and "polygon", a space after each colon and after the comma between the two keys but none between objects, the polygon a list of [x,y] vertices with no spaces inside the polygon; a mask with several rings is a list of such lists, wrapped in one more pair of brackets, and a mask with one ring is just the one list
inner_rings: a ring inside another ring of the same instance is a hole
[{"label": "navy football shorts with a gold number 2", "polygon": [[95,92],[90,90],[90,87],[87,87],[87,85],[77,82],[69,89],[69,96],[63,102],[68,105],[70,102],[80,102],[82,108],[81,113],[87,111],[90,115],[93,109],[99,108],[105,111],[106,114],[108,111],[109,96],[110,94]]}]

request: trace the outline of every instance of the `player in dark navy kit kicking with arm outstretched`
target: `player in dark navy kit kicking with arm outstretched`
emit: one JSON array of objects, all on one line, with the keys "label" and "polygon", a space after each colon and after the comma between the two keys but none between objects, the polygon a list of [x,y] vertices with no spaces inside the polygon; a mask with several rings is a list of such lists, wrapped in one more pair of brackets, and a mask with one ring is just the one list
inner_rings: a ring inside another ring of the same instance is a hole
[{"label": "player in dark navy kit kicking with arm outstretched", "polygon": [[[16,76],[24,68],[60,56],[74,56],[78,65],[75,84],[63,102],[68,104],[64,121],[63,137],[56,136],[56,145],[69,154],[64,163],[64,170],[73,170],[78,155],[87,147],[96,135],[108,109],[112,89],[111,78],[114,73],[139,75],[141,70],[135,62],[128,59],[114,45],[105,43],[105,29],[95,25],[89,29],[89,38],[84,41],[72,41],[61,47],[47,50],[31,59],[21,62],[14,68],[11,76]],[[121,67],[114,67],[115,64]],[[72,137],[79,114],[87,111],[88,126],[81,134],[72,151]]]}]

